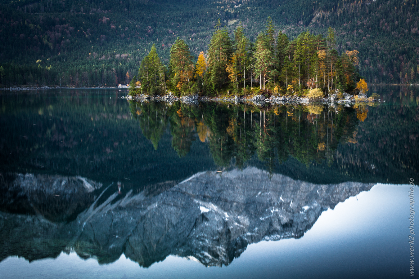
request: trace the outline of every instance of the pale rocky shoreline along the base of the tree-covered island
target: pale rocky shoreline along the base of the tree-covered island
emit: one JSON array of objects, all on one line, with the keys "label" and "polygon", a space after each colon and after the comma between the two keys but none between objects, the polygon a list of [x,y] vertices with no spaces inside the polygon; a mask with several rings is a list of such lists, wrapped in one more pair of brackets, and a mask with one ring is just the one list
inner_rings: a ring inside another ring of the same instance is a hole
[{"label": "pale rocky shoreline along the base of the tree-covered island", "polygon": [[[351,104],[355,104],[356,102],[381,102],[381,99],[371,99],[367,97],[367,95],[365,94],[359,94],[359,95],[350,95],[347,93],[343,94],[343,97],[338,98],[337,94],[331,94],[328,97],[325,98],[320,98],[317,100],[310,100],[307,97],[298,97],[298,96],[279,96],[279,97],[274,97],[274,96],[269,96],[269,97],[265,97],[264,95],[253,95],[253,96],[248,96],[248,97],[240,97],[238,95],[235,95],[234,97],[207,97],[207,96],[202,96],[199,97],[199,95],[186,95],[186,96],[181,96],[181,97],[177,97],[173,94],[171,94],[171,92],[169,92],[168,95],[148,95],[148,94],[140,94],[140,95],[135,95],[135,96],[123,96],[123,99],[127,99],[127,100],[133,100],[133,101],[147,101],[147,100],[158,100],[158,101],[166,101],[166,102],[173,102],[173,101],[181,101],[181,102],[197,102],[197,101],[215,101],[215,102],[224,102],[224,101],[229,101],[229,102],[253,102],[256,104],[261,104],[261,103],[300,103],[300,104],[309,104],[311,102],[316,102],[316,103],[323,103],[323,104],[327,104],[327,103],[337,103],[337,104],[342,104],[342,105],[348,105],[350,106]],[[383,101],[385,102],[385,101]]]}]

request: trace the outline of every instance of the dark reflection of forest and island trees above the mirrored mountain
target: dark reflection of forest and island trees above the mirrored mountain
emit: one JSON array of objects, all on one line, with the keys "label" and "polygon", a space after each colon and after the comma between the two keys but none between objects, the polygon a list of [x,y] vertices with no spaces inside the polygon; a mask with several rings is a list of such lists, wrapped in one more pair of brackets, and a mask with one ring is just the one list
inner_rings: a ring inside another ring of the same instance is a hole
[{"label": "dark reflection of forest and island trees above the mirrored mountain", "polygon": [[403,97],[396,105],[336,109],[180,102],[128,107],[115,98],[109,104],[108,95],[102,100],[71,92],[65,102],[42,94],[5,102],[2,173],[80,175],[103,184],[130,178],[123,180],[124,193],[134,186],[130,182],[136,181],[136,192],[220,166],[252,165],[324,184],[401,184],[418,172],[419,110],[411,91],[380,92],[385,99]]}]

